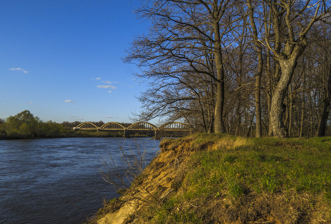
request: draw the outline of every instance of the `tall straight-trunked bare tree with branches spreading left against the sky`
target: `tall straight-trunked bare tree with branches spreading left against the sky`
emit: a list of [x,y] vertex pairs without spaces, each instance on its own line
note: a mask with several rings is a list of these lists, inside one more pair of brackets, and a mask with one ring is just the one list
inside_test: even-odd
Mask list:
[[137,63],[142,68],[137,75],[152,80],[152,85],[181,79],[183,73],[208,75],[216,87],[211,86],[214,102],[210,105],[217,133],[225,132],[223,37],[239,21],[236,10],[230,0],[163,0],[144,5],[138,15],[152,19],[151,33],[137,37],[124,60]]

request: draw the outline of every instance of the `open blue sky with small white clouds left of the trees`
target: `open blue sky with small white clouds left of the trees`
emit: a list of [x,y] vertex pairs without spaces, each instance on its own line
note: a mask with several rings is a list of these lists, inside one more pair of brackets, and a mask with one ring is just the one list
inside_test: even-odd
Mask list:
[[139,4],[1,0],[0,118],[29,110],[43,121],[129,122],[146,87],[120,58],[148,32]]

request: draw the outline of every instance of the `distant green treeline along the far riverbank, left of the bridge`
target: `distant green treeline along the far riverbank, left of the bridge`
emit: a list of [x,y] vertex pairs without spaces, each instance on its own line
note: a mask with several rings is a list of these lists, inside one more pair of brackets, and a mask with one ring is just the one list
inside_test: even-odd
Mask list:
[[[94,122],[99,127],[103,121]],[[122,137],[123,131],[83,131],[72,130],[80,121],[64,121],[56,123],[51,120],[42,121],[28,111],[22,111],[15,116],[6,119],[0,118],[0,139],[23,139],[23,138],[62,138],[62,137]],[[122,123],[124,126],[130,123]]]

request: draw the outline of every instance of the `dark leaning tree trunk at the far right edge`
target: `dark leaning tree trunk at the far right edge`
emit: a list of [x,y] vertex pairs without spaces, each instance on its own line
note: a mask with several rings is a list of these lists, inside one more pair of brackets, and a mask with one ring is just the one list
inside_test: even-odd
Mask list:
[[329,112],[330,112],[330,100],[331,100],[331,63],[329,66],[329,71],[328,71],[328,80],[326,83],[326,93],[324,94],[324,100],[323,100],[323,109],[322,109],[322,114],[321,118],[319,120],[318,124],[318,132],[317,136],[322,137],[325,136],[325,128],[326,128],[326,122],[329,117]]

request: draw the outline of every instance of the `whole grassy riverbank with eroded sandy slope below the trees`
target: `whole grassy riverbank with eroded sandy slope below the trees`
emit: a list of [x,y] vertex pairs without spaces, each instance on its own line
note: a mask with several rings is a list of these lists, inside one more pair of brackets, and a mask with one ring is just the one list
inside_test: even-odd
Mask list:
[[[142,195],[139,184],[151,185],[144,190],[153,197],[133,206],[123,223],[331,222],[330,137],[195,134],[165,139],[160,147],[126,190]],[[128,201],[126,193],[117,203]]]

